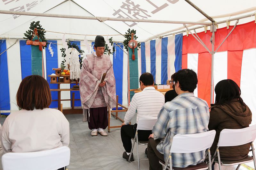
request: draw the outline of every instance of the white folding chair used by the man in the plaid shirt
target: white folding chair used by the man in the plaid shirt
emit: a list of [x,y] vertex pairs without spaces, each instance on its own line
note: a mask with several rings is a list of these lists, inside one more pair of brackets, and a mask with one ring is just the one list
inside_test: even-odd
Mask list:
[[[172,169],[174,170],[181,170],[181,169],[205,170],[209,168],[210,170],[212,170],[210,148],[212,146],[215,134],[216,134],[215,130],[210,130],[202,133],[175,135],[172,139],[172,146],[171,146],[170,153],[166,163],[164,163],[162,160],[159,160],[159,163],[162,166],[164,166],[164,170],[166,170],[166,168],[171,170]],[[185,168],[172,166],[172,156],[171,156],[172,153],[193,153],[193,152],[203,151],[206,149],[208,150],[209,165],[206,164],[205,162],[201,162],[197,165],[190,165]],[[205,157],[206,155],[207,155],[207,152],[205,153]]]

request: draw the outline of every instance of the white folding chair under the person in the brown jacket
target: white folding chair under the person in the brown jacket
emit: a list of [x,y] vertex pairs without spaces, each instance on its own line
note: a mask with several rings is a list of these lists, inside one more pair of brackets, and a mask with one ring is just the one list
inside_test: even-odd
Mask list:
[[[233,165],[238,165],[236,168],[236,170],[238,170],[241,164],[252,162],[252,161],[254,163],[254,168],[256,168],[255,153],[254,153],[254,147],[253,147],[253,141],[255,140],[255,137],[256,137],[256,125],[243,128],[243,129],[221,130],[217,148],[212,157],[212,162],[214,161],[218,163],[220,170],[221,170],[221,166],[233,166]],[[252,151],[252,156],[248,155],[246,158],[238,161],[220,159],[221,155],[219,152],[219,147],[238,146],[238,145],[248,144],[248,143],[251,143],[252,149],[250,151]],[[218,159],[215,159],[216,155]]]

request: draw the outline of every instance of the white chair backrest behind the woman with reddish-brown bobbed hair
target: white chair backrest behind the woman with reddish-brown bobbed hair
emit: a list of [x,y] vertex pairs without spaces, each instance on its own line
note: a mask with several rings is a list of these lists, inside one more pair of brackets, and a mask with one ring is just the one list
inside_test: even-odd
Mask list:
[[70,149],[67,146],[39,151],[5,153],[2,156],[3,170],[52,170],[69,165]]

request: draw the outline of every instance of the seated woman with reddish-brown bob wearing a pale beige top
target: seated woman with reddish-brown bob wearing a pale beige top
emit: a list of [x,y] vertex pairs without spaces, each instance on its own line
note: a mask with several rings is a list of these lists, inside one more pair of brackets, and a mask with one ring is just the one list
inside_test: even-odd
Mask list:
[[[36,152],[69,144],[69,123],[57,109],[48,108],[51,92],[41,76],[24,78],[17,92],[21,110],[11,113],[1,129],[4,152]],[[63,168],[62,168],[63,169]]]

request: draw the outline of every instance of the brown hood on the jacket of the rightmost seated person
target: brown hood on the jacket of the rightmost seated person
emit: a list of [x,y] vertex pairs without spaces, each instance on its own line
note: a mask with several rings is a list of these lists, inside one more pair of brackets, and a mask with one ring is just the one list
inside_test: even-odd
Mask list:
[[252,112],[247,105],[242,105],[238,100],[232,100],[228,104],[215,105],[211,108],[218,107],[223,112],[234,118],[241,126],[248,127],[252,122]]

